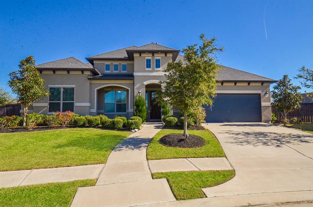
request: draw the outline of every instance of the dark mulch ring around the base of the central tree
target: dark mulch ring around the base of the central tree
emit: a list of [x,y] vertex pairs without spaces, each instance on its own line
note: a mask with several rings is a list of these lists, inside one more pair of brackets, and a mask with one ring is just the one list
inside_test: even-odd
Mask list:
[[160,144],[167,147],[180,147],[180,148],[196,148],[202,147],[205,141],[202,137],[189,134],[186,139],[183,134],[167,134],[159,140]]

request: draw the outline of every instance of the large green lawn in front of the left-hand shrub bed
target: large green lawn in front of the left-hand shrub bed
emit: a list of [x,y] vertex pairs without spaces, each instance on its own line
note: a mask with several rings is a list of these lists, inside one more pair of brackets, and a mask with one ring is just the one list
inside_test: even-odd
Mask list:
[[105,163],[130,134],[93,128],[0,133],[0,171]]

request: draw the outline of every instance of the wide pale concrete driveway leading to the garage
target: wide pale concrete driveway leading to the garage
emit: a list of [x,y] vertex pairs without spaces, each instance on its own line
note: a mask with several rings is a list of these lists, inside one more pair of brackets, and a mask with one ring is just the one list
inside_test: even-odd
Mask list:
[[232,180],[203,189],[208,198],[289,192],[288,197],[301,193],[313,199],[312,134],[263,123],[203,126],[218,138],[236,171]]

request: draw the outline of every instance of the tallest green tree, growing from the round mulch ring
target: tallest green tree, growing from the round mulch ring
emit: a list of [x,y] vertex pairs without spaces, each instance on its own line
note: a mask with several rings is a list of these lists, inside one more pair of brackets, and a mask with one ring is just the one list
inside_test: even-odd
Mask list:
[[164,87],[156,92],[158,103],[168,103],[173,109],[184,113],[184,136],[187,134],[187,113],[199,109],[203,104],[211,105],[216,90],[219,66],[216,54],[224,50],[216,44],[216,39],[204,38],[202,44],[194,44],[182,49],[184,62],[167,63],[164,70]]

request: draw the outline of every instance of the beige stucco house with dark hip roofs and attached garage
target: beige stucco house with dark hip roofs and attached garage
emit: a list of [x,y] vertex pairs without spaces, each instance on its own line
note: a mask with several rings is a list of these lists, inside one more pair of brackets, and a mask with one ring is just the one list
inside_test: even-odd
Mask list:
[[[165,80],[169,61],[182,59],[180,50],[149,43],[131,46],[86,58],[74,57],[36,65],[46,80],[49,97],[36,101],[30,112],[52,114],[73,111],[81,115],[113,117],[134,114],[134,98],[140,91],[146,98],[147,120],[160,120],[161,108],[153,94]],[[270,84],[276,80],[222,66],[217,96],[207,111],[208,122],[269,122]],[[179,116],[179,111],[172,111]]]

